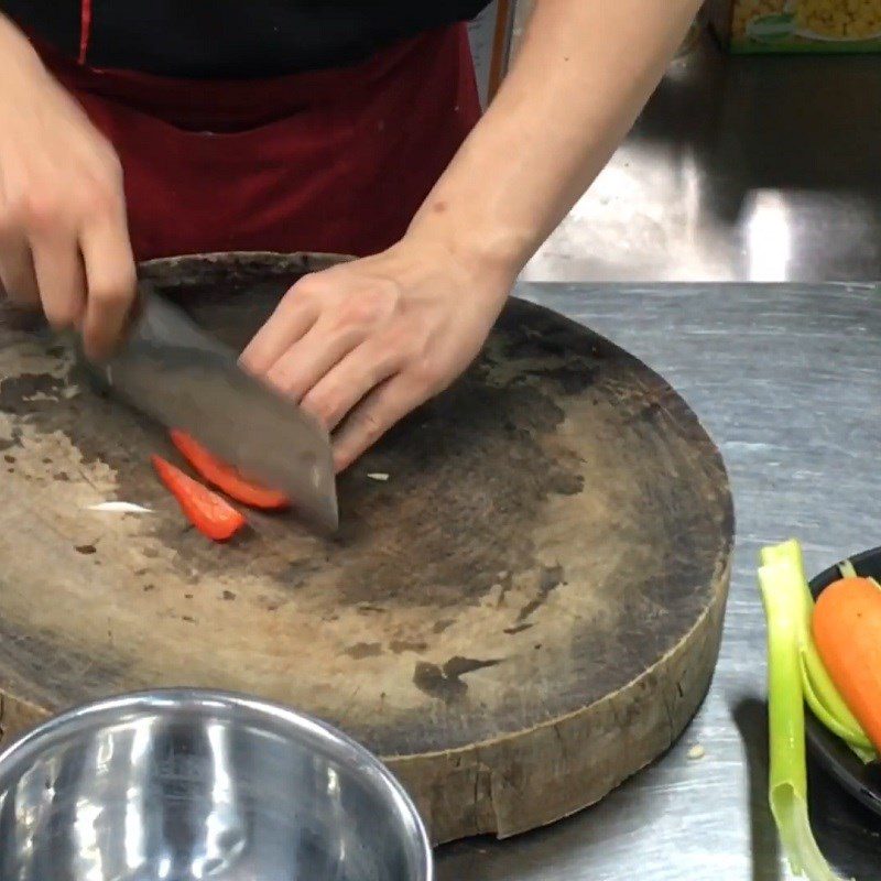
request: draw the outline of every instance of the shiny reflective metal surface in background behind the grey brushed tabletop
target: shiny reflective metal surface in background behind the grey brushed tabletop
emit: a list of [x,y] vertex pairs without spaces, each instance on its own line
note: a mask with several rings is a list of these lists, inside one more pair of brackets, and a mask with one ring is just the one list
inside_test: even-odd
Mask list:
[[881,279],[881,55],[677,58],[527,281]]

